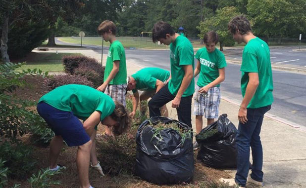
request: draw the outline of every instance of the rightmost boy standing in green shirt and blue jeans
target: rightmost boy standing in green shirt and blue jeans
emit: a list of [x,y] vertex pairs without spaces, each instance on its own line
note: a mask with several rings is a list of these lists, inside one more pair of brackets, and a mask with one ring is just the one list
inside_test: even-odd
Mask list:
[[[260,129],[263,115],[273,102],[273,79],[269,46],[253,35],[249,20],[244,16],[234,17],[228,30],[238,43],[245,42],[240,71],[242,102],[238,112],[237,173],[235,182],[240,187],[246,184],[263,187],[262,146]],[[252,173],[249,173],[250,146],[252,148]]]

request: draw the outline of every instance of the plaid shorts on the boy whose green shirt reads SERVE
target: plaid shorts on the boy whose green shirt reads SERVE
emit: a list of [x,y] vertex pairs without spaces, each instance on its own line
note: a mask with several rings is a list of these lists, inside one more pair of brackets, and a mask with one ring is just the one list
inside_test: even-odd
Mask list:
[[206,94],[199,93],[200,86],[196,85],[195,115],[204,115],[205,118],[214,119],[218,117],[220,104],[220,88],[212,87]]

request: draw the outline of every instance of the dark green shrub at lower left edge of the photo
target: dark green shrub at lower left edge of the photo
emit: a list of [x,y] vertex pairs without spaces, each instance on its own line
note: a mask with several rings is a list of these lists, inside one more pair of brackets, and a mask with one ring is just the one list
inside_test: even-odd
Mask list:
[[26,178],[27,174],[34,168],[35,161],[31,157],[32,148],[17,142],[4,142],[0,145],[0,158],[5,160],[8,167],[7,175],[11,178]]

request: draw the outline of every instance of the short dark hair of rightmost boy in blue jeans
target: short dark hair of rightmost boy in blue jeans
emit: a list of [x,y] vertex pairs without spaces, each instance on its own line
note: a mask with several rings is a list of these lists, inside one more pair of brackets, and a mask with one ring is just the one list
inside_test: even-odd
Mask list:
[[228,23],[227,28],[228,28],[228,31],[231,34],[236,34],[237,30],[239,30],[239,33],[241,35],[252,32],[251,24],[250,24],[249,20],[244,15],[239,15],[239,16],[234,17]]

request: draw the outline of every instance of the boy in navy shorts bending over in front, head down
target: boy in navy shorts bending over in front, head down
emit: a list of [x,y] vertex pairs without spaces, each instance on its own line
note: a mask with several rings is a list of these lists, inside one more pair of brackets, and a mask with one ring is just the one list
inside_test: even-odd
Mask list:
[[80,185],[81,188],[92,188],[88,173],[90,153],[95,140],[94,128],[101,122],[116,135],[122,134],[130,122],[123,105],[114,103],[109,96],[92,87],[68,84],[42,96],[37,111],[55,133],[50,143],[50,169],[59,168],[56,161],[63,140],[69,147],[78,146],[76,161]]

